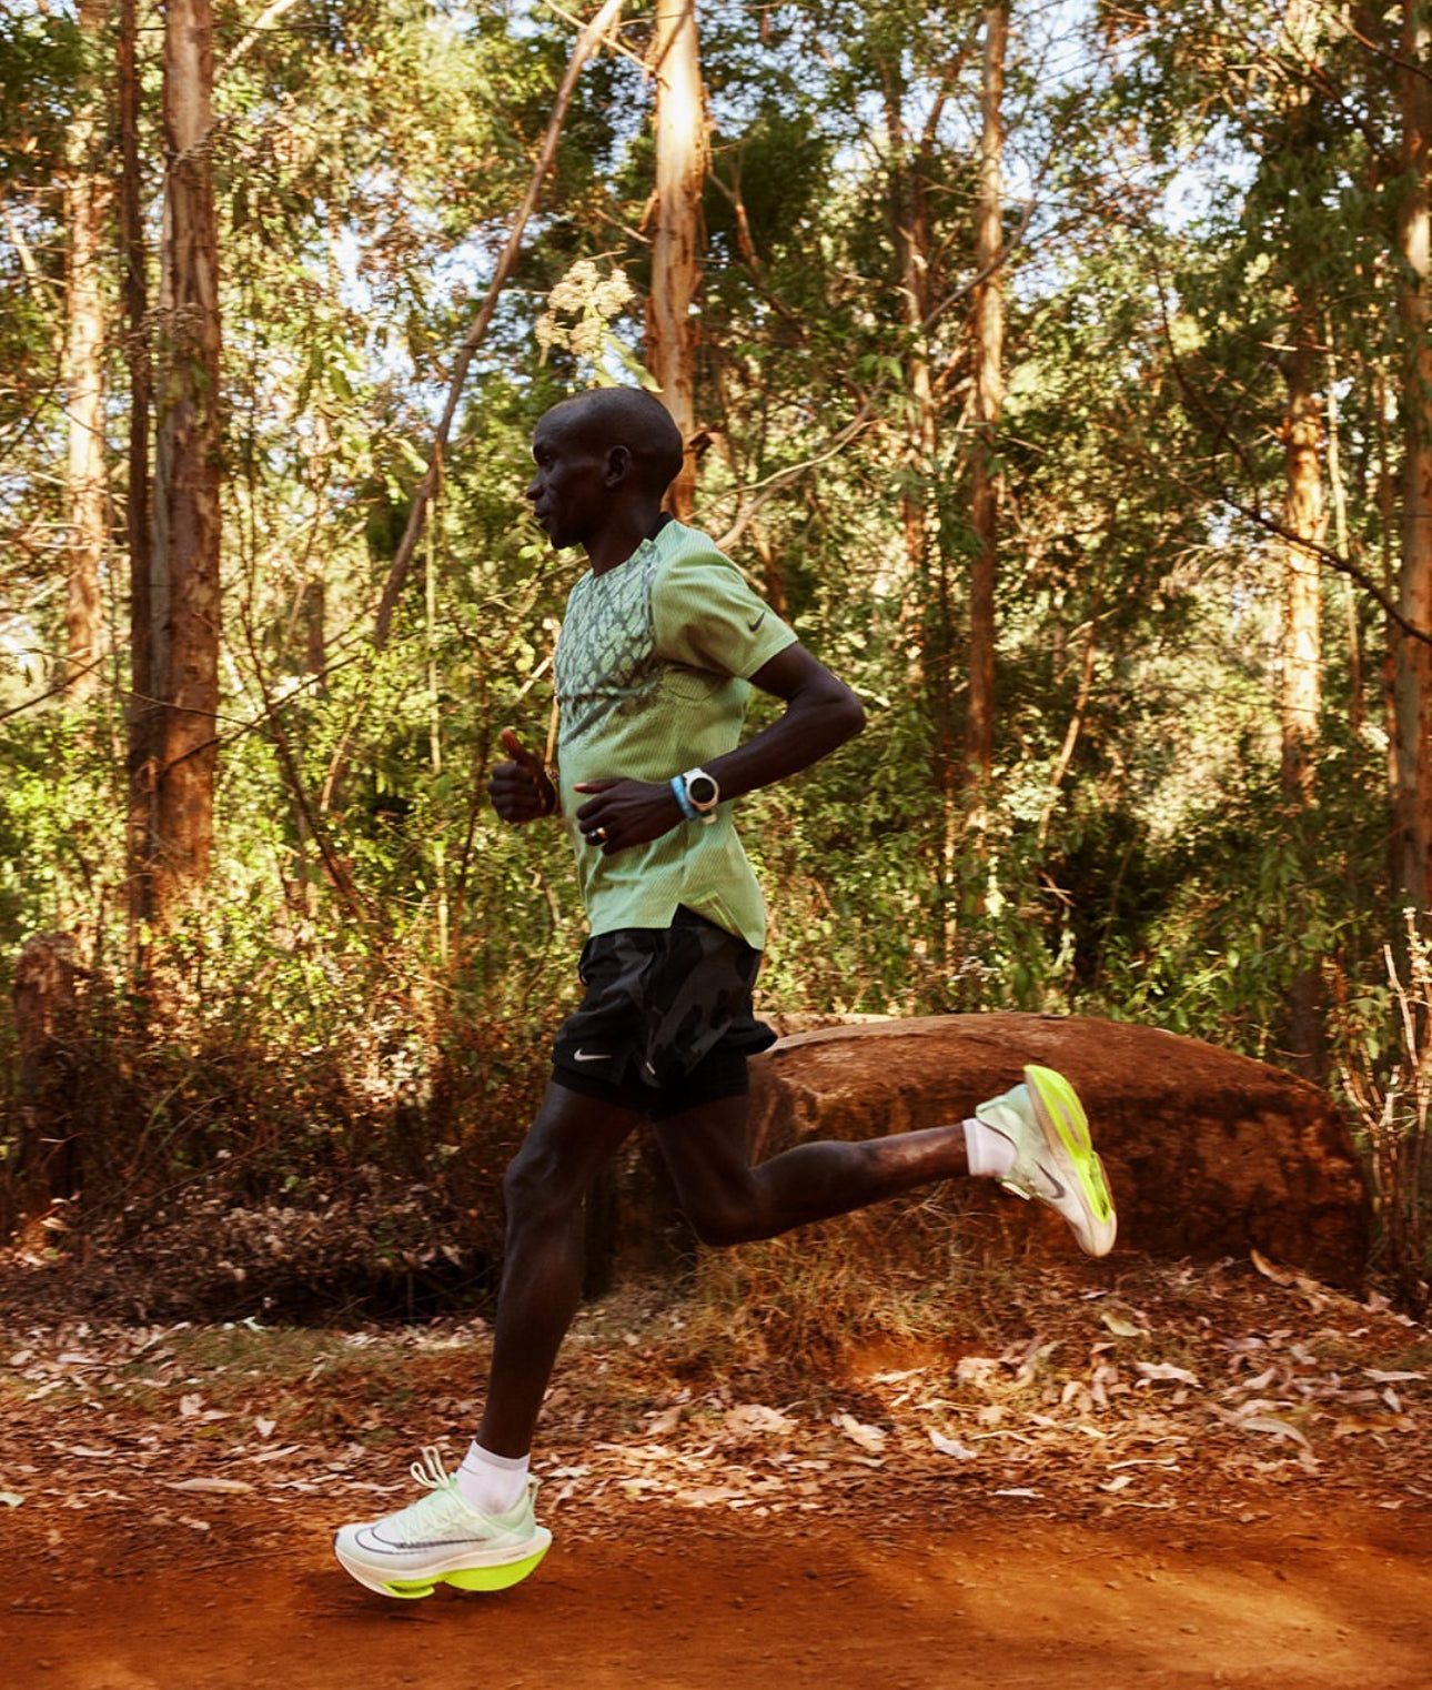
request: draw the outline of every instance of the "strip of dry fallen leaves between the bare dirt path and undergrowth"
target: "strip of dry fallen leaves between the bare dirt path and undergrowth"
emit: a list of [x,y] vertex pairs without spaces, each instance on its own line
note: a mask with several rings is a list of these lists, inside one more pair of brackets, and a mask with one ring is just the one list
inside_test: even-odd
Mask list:
[[[758,1345],[748,1366],[730,1350],[718,1364],[699,1306],[628,1288],[583,1311],[559,1362],[542,1506],[583,1536],[630,1509],[799,1521],[875,1506],[897,1529],[998,1507],[1255,1519],[1287,1486],[1432,1501],[1432,1333],[1385,1300],[1261,1259],[1133,1264],[1111,1288],[1088,1276],[1040,1269],[1003,1315],[979,1300],[978,1332],[887,1338],[881,1366],[853,1335],[819,1367]],[[10,1330],[0,1506],[144,1509],[194,1531],[209,1521],[179,1509],[196,1497],[213,1518],[255,1499],[323,1497],[334,1521],[399,1506],[410,1445],[461,1458],[490,1342],[475,1318]]]

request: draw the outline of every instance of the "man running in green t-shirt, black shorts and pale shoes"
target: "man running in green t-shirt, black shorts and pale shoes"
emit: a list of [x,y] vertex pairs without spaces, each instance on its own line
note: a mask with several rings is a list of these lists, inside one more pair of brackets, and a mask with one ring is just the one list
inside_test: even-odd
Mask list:
[[[746,1060],[775,1043],[751,987],[765,909],[733,801],[861,730],[854,693],[704,536],[662,512],[682,443],[635,389],[567,399],[537,424],[527,488],[552,546],[581,546],[557,642],[556,779],[512,732],[488,791],[513,825],[561,816],[591,938],[586,995],[557,1033],[537,1119],[507,1171],[507,1249],[486,1406],[456,1474],[424,1450],[427,1496],[343,1526],[334,1550],[395,1597],[496,1590],[551,1545],[529,1452],[583,1276],[583,1202],[650,1122],[697,1237],[775,1237],[934,1180],[988,1176],[1055,1208],[1089,1256],[1115,1210],[1074,1088],[1049,1068],[974,1117],[865,1142],[800,1144],[751,1166]],[[782,715],[741,744],[750,686]]]

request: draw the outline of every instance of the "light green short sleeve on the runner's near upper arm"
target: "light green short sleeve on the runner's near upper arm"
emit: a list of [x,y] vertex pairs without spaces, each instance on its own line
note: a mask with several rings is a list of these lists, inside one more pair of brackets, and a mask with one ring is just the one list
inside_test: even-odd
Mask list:
[[652,586],[652,634],[667,662],[743,681],[795,644],[795,630],[714,548],[681,554],[660,571]]

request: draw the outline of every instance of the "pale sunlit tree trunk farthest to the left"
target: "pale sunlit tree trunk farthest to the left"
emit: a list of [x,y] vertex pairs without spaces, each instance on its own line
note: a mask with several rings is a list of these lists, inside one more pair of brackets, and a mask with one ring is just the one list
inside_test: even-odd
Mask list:
[[[81,0],[79,30],[86,46],[98,41],[105,0]],[[78,705],[100,686],[103,607],[100,564],[105,556],[105,308],[100,264],[105,225],[105,177],[96,149],[103,139],[100,91],[86,76],[84,98],[69,130],[64,184],[66,265],[66,404],[68,429],[68,598],[64,610],[64,696]]]

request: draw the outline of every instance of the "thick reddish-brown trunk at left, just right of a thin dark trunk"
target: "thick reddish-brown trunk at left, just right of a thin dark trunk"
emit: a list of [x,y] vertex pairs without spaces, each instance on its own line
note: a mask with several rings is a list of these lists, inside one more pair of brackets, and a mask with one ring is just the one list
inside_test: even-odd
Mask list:
[[164,15],[164,260],[150,602],[159,700],[154,913],[203,889],[214,818],[220,654],[220,311],[209,0]]

